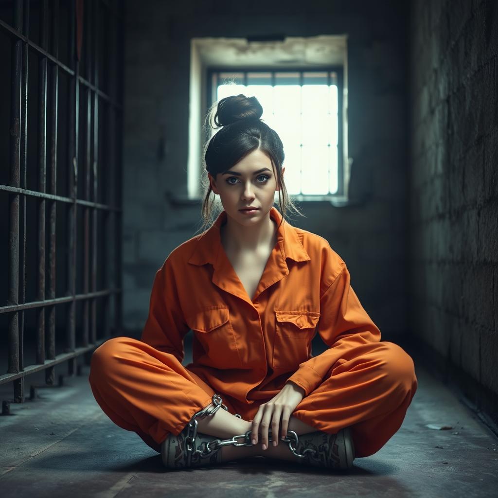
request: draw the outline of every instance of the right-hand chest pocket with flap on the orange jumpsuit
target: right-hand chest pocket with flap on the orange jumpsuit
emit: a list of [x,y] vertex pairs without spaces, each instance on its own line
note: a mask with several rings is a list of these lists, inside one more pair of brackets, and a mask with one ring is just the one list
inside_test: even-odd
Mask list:
[[311,358],[311,340],[320,319],[317,311],[275,310],[272,367],[296,371]]

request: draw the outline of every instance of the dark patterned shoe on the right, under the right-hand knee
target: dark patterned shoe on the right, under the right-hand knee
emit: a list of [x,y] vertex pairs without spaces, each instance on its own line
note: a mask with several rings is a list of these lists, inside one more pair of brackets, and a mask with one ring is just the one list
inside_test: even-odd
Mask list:
[[349,427],[341,429],[337,434],[323,431],[301,434],[297,447],[295,444],[292,447],[296,453],[304,455],[301,460],[308,465],[330,469],[353,467],[355,446]]

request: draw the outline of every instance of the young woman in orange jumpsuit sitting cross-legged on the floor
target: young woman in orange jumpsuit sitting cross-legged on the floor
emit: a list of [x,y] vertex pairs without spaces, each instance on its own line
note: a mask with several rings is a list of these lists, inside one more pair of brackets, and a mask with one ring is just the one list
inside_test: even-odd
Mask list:
[[[204,149],[209,228],[156,272],[141,340],[97,348],[92,391],[166,467],[259,455],[351,468],[401,426],[417,388],[413,361],[380,341],[327,240],[284,219],[299,211],[257,99],[227,97],[208,118],[215,111],[221,129]],[[223,206],[214,223],[212,192]],[[328,349],[314,357],[317,332]]]

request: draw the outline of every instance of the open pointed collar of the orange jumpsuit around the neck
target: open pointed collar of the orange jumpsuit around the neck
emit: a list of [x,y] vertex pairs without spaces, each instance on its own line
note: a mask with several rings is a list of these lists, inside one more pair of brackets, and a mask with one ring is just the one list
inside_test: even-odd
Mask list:
[[[278,227],[282,215],[274,206],[270,210],[270,217],[276,222]],[[198,243],[195,245],[195,249],[188,262],[199,266],[207,263],[212,264],[214,268],[213,283],[252,305],[253,301],[245,291],[221,243],[220,227],[226,220],[227,212],[223,210],[213,225],[201,234],[202,237],[199,238]],[[293,259],[294,261],[309,261],[311,259],[303,248],[294,227],[284,220],[282,225],[277,228],[277,243],[268,258],[254,299],[264,289],[288,275],[289,268],[286,258]]]

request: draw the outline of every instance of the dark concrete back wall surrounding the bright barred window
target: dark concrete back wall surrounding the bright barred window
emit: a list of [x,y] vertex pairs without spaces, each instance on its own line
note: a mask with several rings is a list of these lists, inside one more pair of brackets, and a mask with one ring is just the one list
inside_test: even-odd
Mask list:
[[[383,332],[406,329],[406,2],[126,2],[124,326],[143,327],[157,268],[199,227],[187,193],[190,38],[348,33],[351,193],[363,203],[301,203],[294,225],[327,238]],[[277,130],[278,131],[278,130]]]

